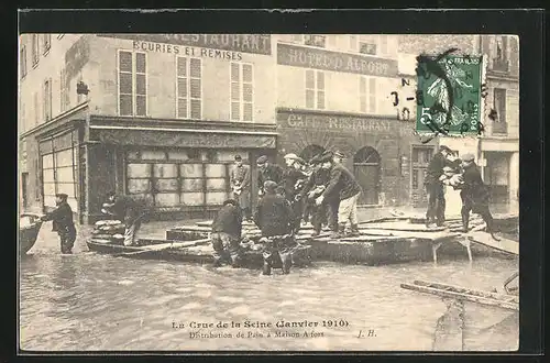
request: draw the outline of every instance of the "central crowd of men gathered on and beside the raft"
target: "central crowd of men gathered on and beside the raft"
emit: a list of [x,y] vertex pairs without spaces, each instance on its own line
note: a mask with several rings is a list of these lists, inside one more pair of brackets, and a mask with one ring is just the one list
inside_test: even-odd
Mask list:
[[[306,163],[296,154],[285,155],[286,167],[272,164],[267,156],[256,160],[258,202],[252,211],[250,166],[235,156],[230,183],[233,199],[226,200],[212,223],[215,264],[226,256],[234,267],[240,265],[239,241],[242,221],[253,221],[262,232],[265,275],[271,274],[274,258],[280,258],[289,273],[295,235],[302,222],[311,221],[312,237],[328,226],[332,238],[359,235],[358,198],[362,193],[353,174],[342,165],[341,152],[323,152]],[[350,232],[346,233],[346,223]]]

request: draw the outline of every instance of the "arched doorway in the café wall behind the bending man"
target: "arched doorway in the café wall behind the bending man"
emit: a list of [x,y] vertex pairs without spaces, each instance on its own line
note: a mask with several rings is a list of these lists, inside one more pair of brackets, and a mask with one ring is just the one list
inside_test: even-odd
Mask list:
[[381,158],[378,152],[371,146],[361,148],[353,156],[353,170],[358,183],[363,188],[358,204],[377,205],[381,185]]

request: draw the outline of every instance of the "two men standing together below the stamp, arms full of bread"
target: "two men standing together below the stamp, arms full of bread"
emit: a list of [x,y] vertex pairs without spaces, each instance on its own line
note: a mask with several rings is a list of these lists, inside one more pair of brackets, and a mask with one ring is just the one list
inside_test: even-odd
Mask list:
[[[461,158],[444,145],[431,158],[425,186],[428,194],[428,211],[426,226],[432,223],[443,226],[446,221],[446,186],[460,190],[462,200],[462,230],[469,231],[470,212],[480,215],[486,223],[486,231],[493,235],[495,231],[493,216],[490,211],[490,189],[483,183],[473,154],[464,154]],[[493,238],[495,238],[493,235]]]

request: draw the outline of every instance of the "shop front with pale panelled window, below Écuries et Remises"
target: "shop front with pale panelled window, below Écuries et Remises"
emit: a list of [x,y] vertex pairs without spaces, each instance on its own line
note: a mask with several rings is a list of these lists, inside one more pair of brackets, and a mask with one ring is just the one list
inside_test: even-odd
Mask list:
[[[257,128],[256,128],[257,129]],[[264,128],[265,129],[265,128]],[[162,218],[212,218],[232,197],[230,170],[241,155],[256,174],[254,161],[274,155],[276,133],[251,128],[90,125],[90,221],[100,216],[106,193],[143,200]],[[252,179],[251,182],[253,182]],[[256,195],[252,183],[252,195]]]

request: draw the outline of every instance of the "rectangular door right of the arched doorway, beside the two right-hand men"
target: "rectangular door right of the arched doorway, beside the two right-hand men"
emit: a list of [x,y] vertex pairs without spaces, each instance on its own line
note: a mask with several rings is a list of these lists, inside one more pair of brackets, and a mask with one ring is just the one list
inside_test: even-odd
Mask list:
[[413,146],[410,170],[410,197],[414,207],[426,207],[428,196],[424,187],[426,170],[433,156],[432,146]]

